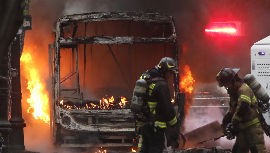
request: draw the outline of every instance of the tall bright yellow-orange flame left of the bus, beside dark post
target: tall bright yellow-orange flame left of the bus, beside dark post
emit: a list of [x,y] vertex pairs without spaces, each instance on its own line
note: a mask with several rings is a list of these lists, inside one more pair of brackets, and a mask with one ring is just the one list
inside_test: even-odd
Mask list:
[[23,67],[22,75],[28,80],[27,89],[31,93],[30,98],[27,99],[27,103],[30,104],[27,113],[31,113],[35,119],[41,119],[45,123],[49,124],[49,96],[45,89],[46,84],[42,82],[42,77],[38,68],[35,67],[31,54],[32,50],[33,49],[29,47],[25,47],[20,58],[21,65]]

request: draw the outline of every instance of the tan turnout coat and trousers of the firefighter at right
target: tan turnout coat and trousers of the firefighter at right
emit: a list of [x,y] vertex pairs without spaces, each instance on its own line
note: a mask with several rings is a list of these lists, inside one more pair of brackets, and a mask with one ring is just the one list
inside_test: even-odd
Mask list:
[[229,91],[229,109],[223,118],[223,123],[232,122],[238,128],[233,152],[266,153],[263,129],[258,119],[258,101],[251,88],[242,81],[234,84]]

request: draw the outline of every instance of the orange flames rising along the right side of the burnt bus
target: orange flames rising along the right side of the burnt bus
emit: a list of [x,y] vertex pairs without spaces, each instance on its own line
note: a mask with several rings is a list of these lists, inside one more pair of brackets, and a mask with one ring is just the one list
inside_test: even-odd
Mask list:
[[193,104],[194,100],[193,100],[193,83],[195,82],[195,80],[193,79],[192,75],[191,75],[191,70],[190,67],[188,65],[184,65],[184,67],[182,68],[182,73],[180,75],[180,92],[185,93],[185,116],[187,116],[189,114],[189,109],[190,106]]

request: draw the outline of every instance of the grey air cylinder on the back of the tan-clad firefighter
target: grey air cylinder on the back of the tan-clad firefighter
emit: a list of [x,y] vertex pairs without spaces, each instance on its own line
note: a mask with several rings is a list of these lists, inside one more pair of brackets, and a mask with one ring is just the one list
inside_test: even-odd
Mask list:
[[267,109],[269,108],[270,98],[264,88],[262,88],[262,85],[256,80],[256,78],[252,74],[247,74],[244,77],[244,81],[252,89],[259,102],[262,102],[262,106],[260,106],[260,104],[258,106],[261,107],[264,113],[267,112]]

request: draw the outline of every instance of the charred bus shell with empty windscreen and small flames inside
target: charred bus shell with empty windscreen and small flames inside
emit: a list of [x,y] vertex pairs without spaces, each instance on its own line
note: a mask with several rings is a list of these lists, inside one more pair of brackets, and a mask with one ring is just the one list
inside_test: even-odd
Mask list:
[[[139,12],[74,14],[59,18],[53,32],[55,42],[49,44],[49,73],[52,78],[50,127],[54,145],[61,148],[136,147],[137,123],[129,109],[132,85],[140,73],[153,66],[154,59],[169,55],[178,62],[173,18]],[[113,51],[116,49],[117,52]],[[180,49],[181,55],[182,47]],[[106,52],[102,54],[102,50]],[[107,52],[112,55],[109,65],[115,67],[102,70]],[[94,55],[98,57],[93,58]],[[152,60],[141,63],[149,59],[149,55]],[[136,58],[142,60],[136,61]],[[93,68],[97,62],[101,64]],[[145,69],[138,68],[141,65]],[[121,75],[114,77],[116,71]],[[104,81],[107,72],[113,74],[107,75],[109,79]],[[173,82],[170,89],[175,93],[172,95],[174,109],[182,121],[185,96],[179,91],[179,74],[174,74],[169,81]],[[103,88],[99,82],[105,82]],[[90,91],[94,96],[88,96]],[[100,96],[105,98],[88,100]],[[193,148],[185,152],[191,150],[202,151]]]

